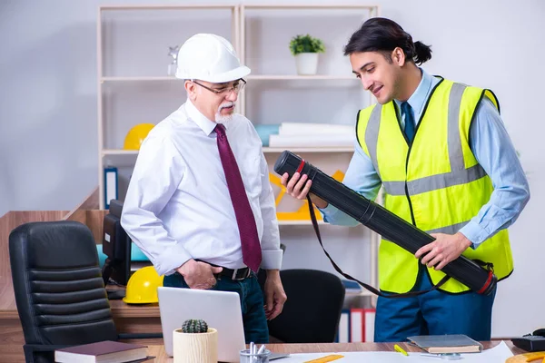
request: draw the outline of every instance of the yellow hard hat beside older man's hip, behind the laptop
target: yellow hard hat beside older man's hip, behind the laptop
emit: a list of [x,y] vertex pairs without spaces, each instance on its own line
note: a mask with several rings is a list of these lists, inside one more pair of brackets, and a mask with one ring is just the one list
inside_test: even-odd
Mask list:
[[158,302],[157,288],[163,286],[164,276],[159,276],[153,266],[136,270],[127,283],[124,302],[127,304],[151,304]]

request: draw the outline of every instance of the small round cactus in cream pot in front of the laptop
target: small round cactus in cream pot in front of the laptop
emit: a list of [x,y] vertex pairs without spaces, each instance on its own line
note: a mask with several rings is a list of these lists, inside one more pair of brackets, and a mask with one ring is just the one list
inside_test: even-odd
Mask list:
[[182,329],[173,331],[173,358],[174,363],[216,363],[218,331],[202,319],[185,320]]

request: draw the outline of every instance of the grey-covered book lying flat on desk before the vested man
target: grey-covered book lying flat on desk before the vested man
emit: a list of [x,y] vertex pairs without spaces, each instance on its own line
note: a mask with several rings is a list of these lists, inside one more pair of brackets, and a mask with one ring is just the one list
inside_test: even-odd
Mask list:
[[422,335],[409,340],[428,353],[479,353],[482,344],[463,334]]

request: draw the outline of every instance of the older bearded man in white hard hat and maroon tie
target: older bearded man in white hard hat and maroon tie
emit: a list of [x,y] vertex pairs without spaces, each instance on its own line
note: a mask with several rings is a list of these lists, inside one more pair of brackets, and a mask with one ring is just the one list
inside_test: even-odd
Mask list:
[[267,319],[281,313],[286,296],[262,142],[233,113],[247,74],[221,36],[196,34],[183,44],[176,77],[185,80],[187,101],[144,140],[122,225],[165,275],[164,286],[238,292],[246,341],[266,343]]

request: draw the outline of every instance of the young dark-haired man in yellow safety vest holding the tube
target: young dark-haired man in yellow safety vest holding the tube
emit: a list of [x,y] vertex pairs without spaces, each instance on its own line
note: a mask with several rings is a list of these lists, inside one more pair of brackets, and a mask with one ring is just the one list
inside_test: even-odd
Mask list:
[[[381,240],[379,279],[386,293],[430,289],[462,253],[493,264],[499,280],[513,262],[507,227],[530,198],[529,185],[489,90],[431,76],[419,68],[431,49],[389,19],[372,18],[344,48],[353,73],[379,104],[358,114],[357,142],[344,183],[435,238],[412,255]],[[305,198],[306,175],[282,177]],[[311,194],[325,221],[352,218]],[[419,263],[419,260],[421,259]],[[467,334],[490,340],[495,290],[482,296],[451,279],[441,289],[405,298],[379,297],[375,341],[411,335]]]

